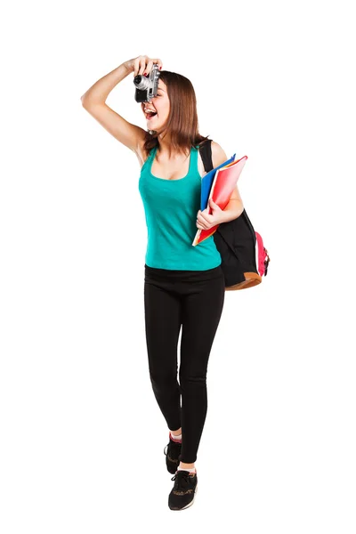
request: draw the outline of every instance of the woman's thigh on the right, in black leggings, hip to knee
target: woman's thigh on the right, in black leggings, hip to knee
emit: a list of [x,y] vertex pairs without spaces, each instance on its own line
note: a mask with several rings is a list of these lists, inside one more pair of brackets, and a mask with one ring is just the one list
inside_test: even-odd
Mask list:
[[204,376],[225,299],[223,274],[197,282],[182,306],[181,374]]

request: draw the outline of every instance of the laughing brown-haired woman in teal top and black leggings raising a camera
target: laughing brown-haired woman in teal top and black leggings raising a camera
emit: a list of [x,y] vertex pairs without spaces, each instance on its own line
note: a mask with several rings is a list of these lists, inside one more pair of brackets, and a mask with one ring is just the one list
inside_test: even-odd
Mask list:
[[[149,75],[154,63],[159,67],[158,93],[141,104],[146,131],[105,101],[125,77]],[[98,80],[82,103],[109,134],[134,151],[141,166],[139,190],[148,228],[144,308],[150,381],[169,429],[166,467],[175,474],[168,506],[182,510],[193,503],[197,490],[195,462],[206,420],[207,362],[225,295],[214,237],[196,247],[191,243],[197,229],[231,221],[243,205],[236,188],[224,210],[211,202],[213,214],[200,211],[200,182],[206,173],[198,147],[207,138],[198,133],[196,96],[190,80],[162,70],[159,59],[125,61]],[[218,143],[212,142],[211,148],[214,167],[228,159]]]

